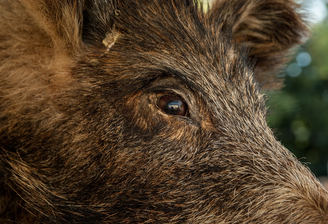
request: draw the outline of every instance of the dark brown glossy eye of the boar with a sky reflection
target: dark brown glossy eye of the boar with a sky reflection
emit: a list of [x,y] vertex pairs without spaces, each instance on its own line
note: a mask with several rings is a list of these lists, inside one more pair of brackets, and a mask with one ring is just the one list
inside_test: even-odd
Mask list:
[[180,96],[175,94],[161,96],[157,100],[157,106],[167,114],[184,117],[188,115],[187,103]]

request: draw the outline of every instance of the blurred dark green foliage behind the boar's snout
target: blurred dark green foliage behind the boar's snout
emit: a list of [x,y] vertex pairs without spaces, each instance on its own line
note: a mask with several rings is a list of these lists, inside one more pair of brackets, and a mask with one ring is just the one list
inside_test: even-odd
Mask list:
[[313,29],[285,74],[285,87],[268,94],[270,127],[316,176],[327,175],[328,19]]

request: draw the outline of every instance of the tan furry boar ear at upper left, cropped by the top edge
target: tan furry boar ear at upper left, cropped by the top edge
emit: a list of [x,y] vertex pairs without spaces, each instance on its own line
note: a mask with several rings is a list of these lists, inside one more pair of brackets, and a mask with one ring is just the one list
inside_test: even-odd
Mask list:
[[83,0],[24,0],[23,4],[59,48],[81,47]]

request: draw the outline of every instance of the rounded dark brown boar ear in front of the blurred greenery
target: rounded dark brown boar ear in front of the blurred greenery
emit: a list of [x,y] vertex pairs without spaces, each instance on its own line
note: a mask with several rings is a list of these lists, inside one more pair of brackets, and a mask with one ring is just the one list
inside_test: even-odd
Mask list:
[[299,10],[292,0],[217,0],[210,17],[221,20],[222,30],[232,31],[237,45],[249,48],[257,81],[278,88],[282,82],[273,74],[308,31]]

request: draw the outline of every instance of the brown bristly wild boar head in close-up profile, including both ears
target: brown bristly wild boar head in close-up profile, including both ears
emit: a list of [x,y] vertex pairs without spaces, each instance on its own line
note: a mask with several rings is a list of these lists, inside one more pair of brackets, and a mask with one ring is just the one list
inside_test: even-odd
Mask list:
[[259,86],[292,0],[0,0],[1,223],[328,223]]

